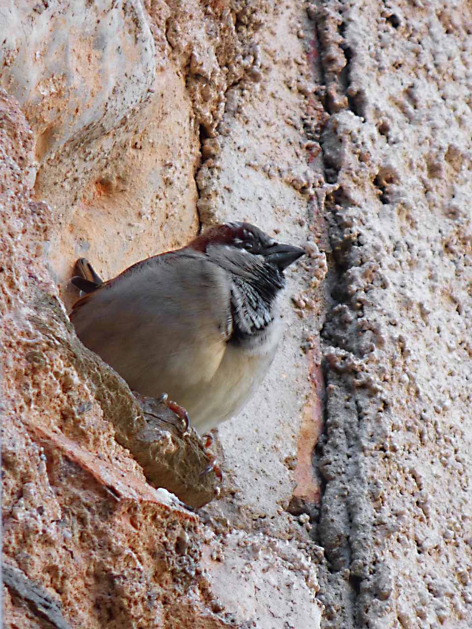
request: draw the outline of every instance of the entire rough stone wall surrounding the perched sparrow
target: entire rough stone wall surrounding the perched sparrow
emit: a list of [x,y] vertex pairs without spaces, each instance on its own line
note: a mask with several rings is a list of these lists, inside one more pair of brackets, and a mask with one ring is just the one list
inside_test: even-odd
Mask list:
[[[16,0],[0,31],[6,623],[471,626],[469,4]],[[143,449],[68,280],[222,220],[309,255],[191,511],[159,485],[215,494],[201,442]]]

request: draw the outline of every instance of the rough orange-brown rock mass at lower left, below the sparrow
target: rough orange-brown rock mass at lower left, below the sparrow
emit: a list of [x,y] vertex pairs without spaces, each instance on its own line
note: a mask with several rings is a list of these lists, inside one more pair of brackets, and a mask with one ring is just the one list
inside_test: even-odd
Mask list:
[[3,550],[29,584],[10,586],[5,619],[43,626],[33,591],[70,626],[164,626],[198,580],[198,518],[115,440],[111,420],[128,431],[145,420],[72,332],[42,264],[51,217],[30,201],[33,137],[16,101],[0,99]]

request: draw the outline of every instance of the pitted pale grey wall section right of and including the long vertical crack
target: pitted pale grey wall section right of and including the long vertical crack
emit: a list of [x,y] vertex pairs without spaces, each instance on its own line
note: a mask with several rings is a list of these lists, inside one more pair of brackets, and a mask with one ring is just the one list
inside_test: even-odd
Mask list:
[[472,625],[469,3],[322,3],[326,626]]

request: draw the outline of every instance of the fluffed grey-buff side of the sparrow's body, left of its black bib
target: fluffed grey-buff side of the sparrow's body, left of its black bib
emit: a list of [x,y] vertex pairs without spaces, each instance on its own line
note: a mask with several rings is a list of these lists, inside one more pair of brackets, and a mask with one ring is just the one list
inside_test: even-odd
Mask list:
[[201,253],[164,253],[79,299],[70,318],[138,391],[165,391],[168,377],[196,386],[211,380],[232,333],[230,282]]

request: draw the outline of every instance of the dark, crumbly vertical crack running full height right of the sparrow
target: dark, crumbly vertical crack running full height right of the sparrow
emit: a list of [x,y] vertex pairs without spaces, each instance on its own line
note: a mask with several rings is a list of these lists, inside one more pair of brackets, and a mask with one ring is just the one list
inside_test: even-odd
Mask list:
[[[326,86],[324,106],[332,116],[320,145],[325,177],[336,184],[342,171],[343,140],[333,116],[342,109],[362,116],[362,94],[352,91],[349,85],[354,53],[344,40],[342,5],[317,3],[312,13]],[[351,230],[349,205],[342,184],[327,195],[324,203],[332,246],[327,276],[332,306],[322,330],[325,435],[317,454],[324,479],[318,536],[327,559],[327,564],[321,567],[323,594],[319,597],[325,604],[322,621],[325,629],[365,626],[362,607],[370,596],[373,516],[362,462],[363,445],[368,438],[366,418],[381,412],[382,406],[369,390],[369,379],[359,382],[360,365],[350,364],[351,357],[356,362],[362,361],[358,337],[364,307],[357,301],[357,294],[352,293],[349,271],[353,267],[358,269],[364,261],[359,234]]]

